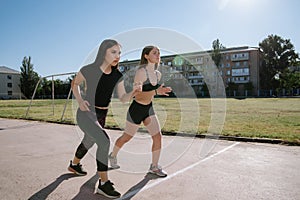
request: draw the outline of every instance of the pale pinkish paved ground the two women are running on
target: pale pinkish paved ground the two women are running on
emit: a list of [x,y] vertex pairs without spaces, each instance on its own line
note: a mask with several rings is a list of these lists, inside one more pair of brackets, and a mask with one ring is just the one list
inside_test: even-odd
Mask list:
[[[112,142],[121,131],[107,130]],[[107,199],[98,185],[96,146],[82,160],[88,175],[67,171],[80,143],[76,126],[0,119],[0,199]],[[109,171],[121,199],[299,200],[300,147],[185,137],[163,137],[168,177],[147,174],[151,139],[139,133]]]

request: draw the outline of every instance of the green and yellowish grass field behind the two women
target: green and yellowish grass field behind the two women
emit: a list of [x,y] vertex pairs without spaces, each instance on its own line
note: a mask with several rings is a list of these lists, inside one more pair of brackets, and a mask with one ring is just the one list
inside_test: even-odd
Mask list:
[[[25,119],[29,100],[1,100],[0,117]],[[27,119],[74,124],[77,104],[69,100],[34,100]],[[123,128],[129,104],[113,99],[107,128]],[[163,132],[218,134],[282,139],[300,144],[300,99],[156,98],[155,111]]]

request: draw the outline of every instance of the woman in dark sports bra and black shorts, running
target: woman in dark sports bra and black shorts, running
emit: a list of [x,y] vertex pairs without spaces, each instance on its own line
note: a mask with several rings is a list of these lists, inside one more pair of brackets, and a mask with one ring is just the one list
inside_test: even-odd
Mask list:
[[166,177],[167,174],[158,165],[161,151],[161,129],[157,116],[153,110],[152,100],[155,95],[166,95],[172,91],[170,87],[164,87],[160,82],[161,73],[157,70],[160,63],[160,51],[155,46],[146,46],[141,55],[140,67],[138,68],[134,82],[135,85],[142,83],[142,92],[138,92],[132,101],[126,119],[126,127],[123,135],[119,137],[109,155],[111,167],[119,168],[117,164],[117,154],[122,146],[128,142],[137,132],[140,124],[143,122],[150,133],[152,143],[152,163],[149,172],[160,177]]

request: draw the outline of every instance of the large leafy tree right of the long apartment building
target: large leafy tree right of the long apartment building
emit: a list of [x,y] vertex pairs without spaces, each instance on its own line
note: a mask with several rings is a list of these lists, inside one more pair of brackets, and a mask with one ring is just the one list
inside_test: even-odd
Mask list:
[[276,80],[278,74],[284,75],[287,68],[296,63],[299,55],[289,39],[277,35],[269,35],[259,43],[262,51],[262,67],[260,70],[260,84],[262,89],[276,89],[280,81]]

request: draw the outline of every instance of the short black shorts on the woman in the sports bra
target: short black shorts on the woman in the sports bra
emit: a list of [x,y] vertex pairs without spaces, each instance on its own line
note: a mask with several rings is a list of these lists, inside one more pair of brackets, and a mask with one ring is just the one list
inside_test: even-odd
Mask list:
[[127,112],[127,121],[141,124],[142,121],[151,115],[155,115],[152,102],[148,105],[143,105],[133,100]]

